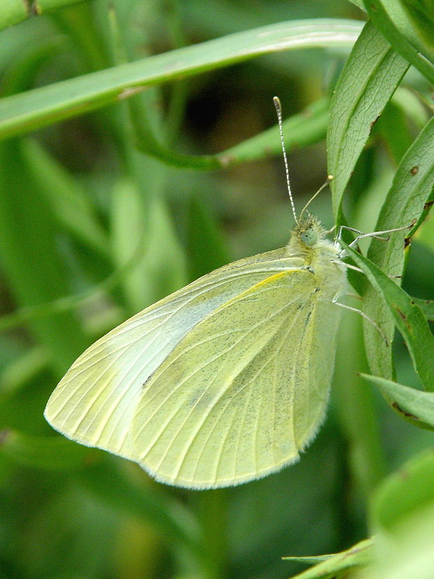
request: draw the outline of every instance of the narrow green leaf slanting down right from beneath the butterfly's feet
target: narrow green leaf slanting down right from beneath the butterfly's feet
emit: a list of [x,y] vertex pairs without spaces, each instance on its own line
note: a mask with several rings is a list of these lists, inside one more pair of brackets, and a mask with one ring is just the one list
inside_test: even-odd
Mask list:
[[[344,242],[344,249],[353,259],[354,263],[365,272],[367,279],[377,291],[377,300],[381,299],[391,312],[395,325],[400,330],[407,344],[410,356],[414,364],[414,370],[419,375],[426,390],[434,390],[434,336],[430,332],[419,306],[410,298],[404,290],[395,284],[384,274],[377,265],[372,263],[360,253],[353,251]],[[377,322],[377,319],[374,319]],[[380,327],[382,325],[380,324]],[[377,328],[374,328],[378,332]],[[381,334],[380,334],[381,337]],[[381,337],[384,340],[384,337]],[[386,351],[391,349],[390,342],[384,344]]]

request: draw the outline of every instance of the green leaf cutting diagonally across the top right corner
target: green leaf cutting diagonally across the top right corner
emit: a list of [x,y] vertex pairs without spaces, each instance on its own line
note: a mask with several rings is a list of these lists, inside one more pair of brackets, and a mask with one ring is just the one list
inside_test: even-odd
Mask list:
[[363,0],[367,13],[381,34],[405,60],[434,83],[434,53],[415,32],[400,2],[396,0]]

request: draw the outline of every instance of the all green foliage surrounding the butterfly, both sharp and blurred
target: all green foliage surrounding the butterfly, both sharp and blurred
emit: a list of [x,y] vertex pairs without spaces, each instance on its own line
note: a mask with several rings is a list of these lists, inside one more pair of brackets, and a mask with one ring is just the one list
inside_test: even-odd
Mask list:
[[[1,577],[429,578],[432,8],[2,5]],[[327,225],[407,226],[361,239],[367,258],[343,236],[365,272],[350,272],[354,305],[383,335],[344,316],[329,417],[300,463],[234,489],[172,489],[53,433],[43,408],[116,323],[286,243],[275,94],[297,207],[328,173],[332,202],[312,209]]]

